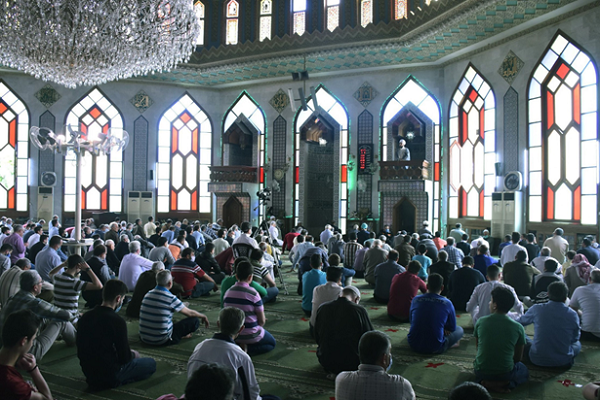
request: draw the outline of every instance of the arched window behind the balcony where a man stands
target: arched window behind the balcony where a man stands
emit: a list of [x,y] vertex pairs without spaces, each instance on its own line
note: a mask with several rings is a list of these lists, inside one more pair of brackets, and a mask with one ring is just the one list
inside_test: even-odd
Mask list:
[[432,215],[432,229],[439,229],[440,211],[440,120],[441,111],[438,101],[427,89],[414,77],[409,76],[383,104],[381,110],[381,158],[382,161],[393,159],[393,143],[391,143],[392,132],[389,131],[392,123],[404,111],[417,110],[422,114],[428,125],[431,136],[433,136],[433,150],[431,147],[425,149],[425,158],[433,161],[433,181],[425,181],[425,191],[429,195],[429,215]]

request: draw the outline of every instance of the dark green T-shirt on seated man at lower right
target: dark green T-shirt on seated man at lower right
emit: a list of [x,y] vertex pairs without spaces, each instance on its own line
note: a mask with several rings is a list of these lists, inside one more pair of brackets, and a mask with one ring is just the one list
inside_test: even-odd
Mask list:
[[475,324],[477,356],[473,362],[476,371],[489,375],[505,374],[513,370],[515,347],[525,344],[525,329],[506,314],[491,314]]

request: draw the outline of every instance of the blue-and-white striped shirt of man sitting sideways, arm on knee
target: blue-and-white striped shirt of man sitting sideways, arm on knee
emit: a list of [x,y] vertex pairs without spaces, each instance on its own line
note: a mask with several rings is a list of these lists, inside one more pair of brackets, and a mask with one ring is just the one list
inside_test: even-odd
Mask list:
[[157,286],[144,296],[140,308],[140,339],[142,342],[161,345],[173,334],[173,313],[185,305],[174,294]]

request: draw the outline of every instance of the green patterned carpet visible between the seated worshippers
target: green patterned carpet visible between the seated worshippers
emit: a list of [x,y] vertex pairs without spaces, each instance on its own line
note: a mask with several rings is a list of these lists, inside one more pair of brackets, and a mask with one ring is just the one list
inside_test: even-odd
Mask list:
[[[308,333],[308,320],[300,308],[300,297],[296,292],[296,274],[288,273],[284,267],[289,296],[280,294],[275,304],[266,306],[266,329],[277,340],[274,351],[254,357],[254,365],[261,386],[261,392],[275,394],[282,399],[330,400],[334,398],[334,383],[325,378],[324,371],[316,357],[316,344]],[[408,324],[390,321],[386,308],[372,298],[361,279],[355,281],[361,289],[361,304],[368,310],[375,329],[390,335],[393,343],[393,374],[401,374],[413,385],[418,398],[445,399],[455,385],[474,378],[472,363],[475,357],[475,340],[470,316],[458,317],[458,323],[465,328],[465,337],[457,349],[439,356],[422,356],[410,350],[406,341]],[[83,304],[83,303],[82,303]],[[202,329],[192,339],[184,340],[172,347],[155,348],[142,344],[138,338],[137,320],[128,319],[131,347],[143,356],[157,361],[157,371],[149,380],[124,387],[87,393],[85,378],[79,367],[76,350],[63,342],[56,343],[41,363],[41,370],[57,399],[156,399],[165,393],[180,396],[186,383],[186,364],[197,343],[210,338],[217,329],[219,313],[219,293],[210,297],[192,300],[190,304],[205,313],[210,320],[210,328]],[[121,312],[124,316],[124,312]],[[529,335],[533,328],[527,329]],[[600,346],[584,342],[582,353],[569,370],[552,370],[528,364],[530,381],[510,394],[496,395],[501,399],[578,399],[581,386],[600,377]]]

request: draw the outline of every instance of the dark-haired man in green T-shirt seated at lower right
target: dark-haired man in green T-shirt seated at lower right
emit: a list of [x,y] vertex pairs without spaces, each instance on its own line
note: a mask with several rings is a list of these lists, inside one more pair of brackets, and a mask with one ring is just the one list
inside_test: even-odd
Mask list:
[[480,318],[473,331],[477,344],[475,378],[490,392],[509,393],[529,379],[529,371],[521,362],[525,329],[506,315],[514,304],[509,289],[495,287],[490,302],[492,314]]

